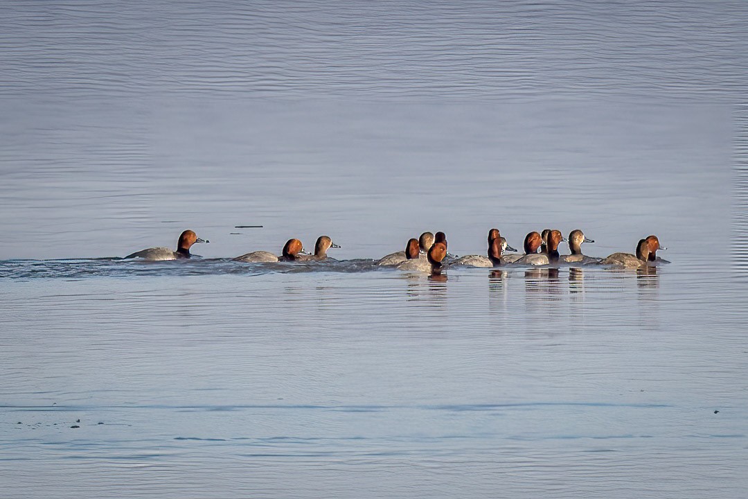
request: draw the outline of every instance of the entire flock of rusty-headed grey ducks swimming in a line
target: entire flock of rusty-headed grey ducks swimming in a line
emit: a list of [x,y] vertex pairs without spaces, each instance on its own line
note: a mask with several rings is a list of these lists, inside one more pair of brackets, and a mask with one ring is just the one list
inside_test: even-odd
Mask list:
[[[197,242],[209,242],[197,237],[192,230],[185,230],[180,235],[177,251],[169,248],[148,248],[127,255],[125,258],[142,258],[144,260],[177,260],[189,258],[189,250]],[[568,242],[571,254],[559,254],[561,242]],[[572,230],[565,238],[560,230],[546,229],[542,233],[530,232],[524,238],[524,254],[519,254],[515,248],[506,244],[498,229],[488,231],[487,256],[471,254],[466,257],[455,257],[447,252],[447,236],[443,232],[435,235],[424,232],[418,239],[409,239],[405,251],[388,254],[376,262],[377,266],[394,267],[408,272],[430,272],[439,274],[444,266],[497,267],[506,265],[539,266],[553,265],[560,262],[599,264],[616,268],[638,269],[640,267],[655,266],[658,263],[668,263],[657,257],[657,250],[667,249],[660,246],[657,236],[647,236],[640,239],[636,254],[613,253],[605,258],[589,257],[582,253],[584,242],[595,242],[587,239],[581,230]],[[239,262],[294,262],[325,260],[330,248],[340,248],[328,236],[320,236],[314,246],[314,253],[304,251],[304,245],[298,239],[289,239],[283,246],[280,256],[269,251],[253,251],[243,254],[233,260]],[[515,254],[505,254],[512,251]]]

